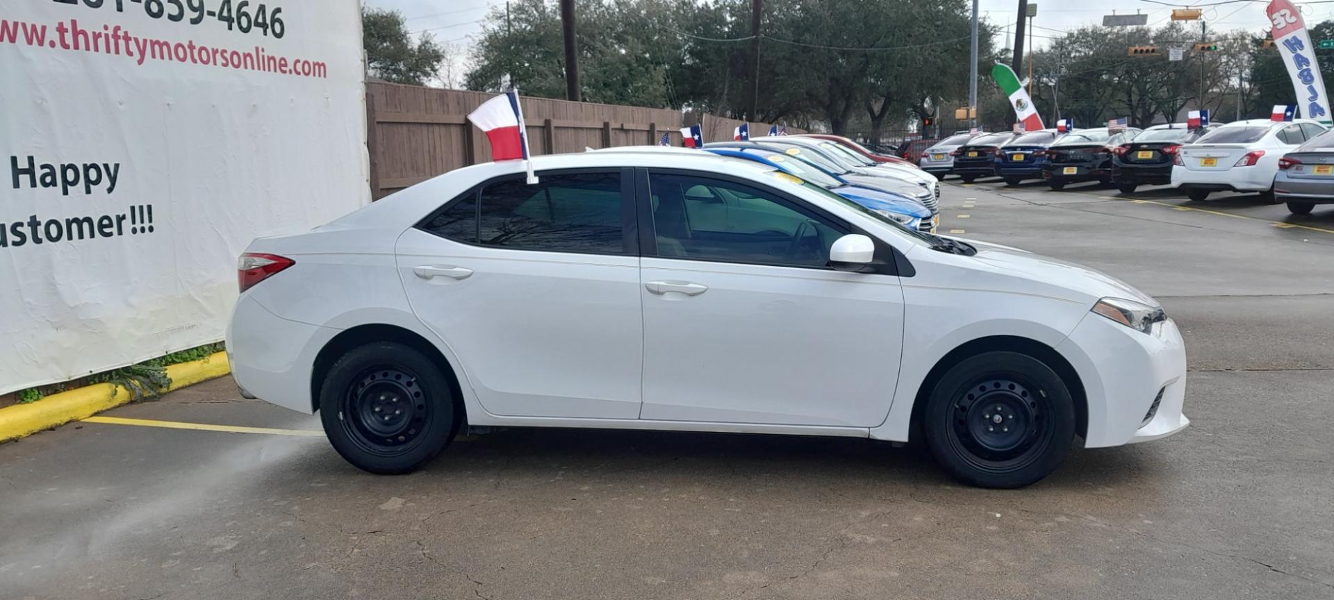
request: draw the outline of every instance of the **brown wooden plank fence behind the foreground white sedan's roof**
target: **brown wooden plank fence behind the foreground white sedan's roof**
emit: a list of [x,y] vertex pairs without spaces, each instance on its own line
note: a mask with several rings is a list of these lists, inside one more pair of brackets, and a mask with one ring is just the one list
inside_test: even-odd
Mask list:
[[[487,136],[467,115],[494,95],[388,83],[366,84],[371,195],[379,200],[436,175],[491,160]],[[524,128],[534,155],[583,152],[584,148],[658,144],[663,133],[680,145],[680,128],[695,115],[660,108],[523,99]],[[704,141],[731,140],[740,121],[712,115],[703,121]],[[768,124],[751,123],[755,136]],[[788,128],[790,133],[802,129]]]

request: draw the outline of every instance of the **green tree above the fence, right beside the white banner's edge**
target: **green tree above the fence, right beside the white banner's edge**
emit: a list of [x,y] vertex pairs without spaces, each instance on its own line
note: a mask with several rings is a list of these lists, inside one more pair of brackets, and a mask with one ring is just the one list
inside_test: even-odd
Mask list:
[[398,11],[362,8],[362,44],[366,68],[386,81],[424,85],[444,61],[444,51],[430,33],[414,44]]

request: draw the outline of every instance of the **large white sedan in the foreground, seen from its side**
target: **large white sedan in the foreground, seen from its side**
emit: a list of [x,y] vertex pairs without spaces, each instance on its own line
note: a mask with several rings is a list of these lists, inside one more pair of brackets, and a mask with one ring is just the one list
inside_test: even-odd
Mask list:
[[534,185],[480,164],[255,240],[227,332],[243,393],[319,411],[376,473],[468,427],[575,427],[920,436],[960,480],[1021,487],[1077,436],[1190,423],[1177,325],[1106,275],[914,232],[754,161],[534,164]]

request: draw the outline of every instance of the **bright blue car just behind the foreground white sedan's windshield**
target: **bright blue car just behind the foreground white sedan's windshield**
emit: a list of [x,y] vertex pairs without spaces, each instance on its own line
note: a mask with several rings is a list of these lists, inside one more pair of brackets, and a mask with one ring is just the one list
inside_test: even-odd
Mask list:
[[831,175],[812,163],[807,163],[782,151],[766,148],[763,145],[712,148],[706,145],[704,149],[719,156],[732,156],[776,167],[786,173],[802,177],[806,181],[875,211],[884,217],[892,219],[903,227],[914,231],[930,233],[935,232],[931,209],[926,208],[922,203],[898,193],[848,184],[836,175]]

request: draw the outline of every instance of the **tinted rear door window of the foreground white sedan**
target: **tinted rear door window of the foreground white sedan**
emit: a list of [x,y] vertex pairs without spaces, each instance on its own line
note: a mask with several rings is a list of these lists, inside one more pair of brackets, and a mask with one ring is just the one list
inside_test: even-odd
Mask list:
[[[480,199],[480,204],[478,203]],[[622,253],[620,173],[522,176],[490,183],[422,225],[471,244],[578,253]]]

